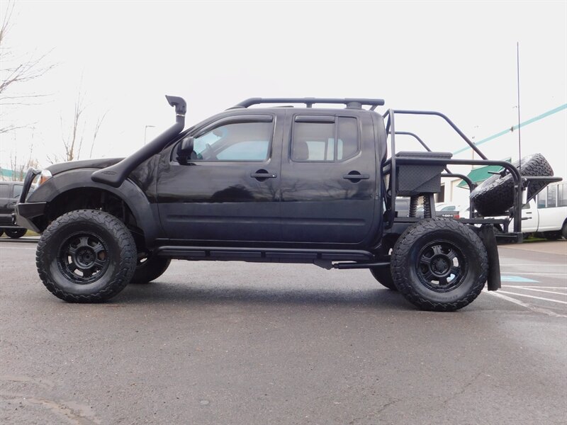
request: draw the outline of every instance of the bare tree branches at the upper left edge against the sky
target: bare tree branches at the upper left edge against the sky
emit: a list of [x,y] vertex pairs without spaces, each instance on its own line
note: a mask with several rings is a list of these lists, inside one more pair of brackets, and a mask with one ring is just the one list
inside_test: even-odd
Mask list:
[[26,127],[26,124],[4,123],[6,107],[31,105],[46,94],[30,94],[17,91],[21,84],[42,77],[45,72],[54,67],[54,64],[45,64],[47,55],[26,55],[18,57],[6,46],[6,40],[11,29],[14,2],[8,1],[4,18],[0,27],[0,107],[4,112],[3,123],[0,123],[0,134]]

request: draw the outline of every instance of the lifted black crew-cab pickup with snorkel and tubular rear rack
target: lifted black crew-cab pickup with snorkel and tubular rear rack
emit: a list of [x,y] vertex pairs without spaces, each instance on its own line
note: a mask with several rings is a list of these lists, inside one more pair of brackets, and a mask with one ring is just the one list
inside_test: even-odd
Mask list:
[[[423,310],[457,310],[487,280],[489,290],[500,287],[493,229],[503,219],[473,218],[472,202],[468,219],[435,217],[440,179],[461,176],[447,166],[503,166],[498,208],[517,218],[522,194],[533,198],[557,180],[552,171],[522,176],[514,164],[488,161],[441,113],[379,115],[381,99],[250,98],[185,131],[185,101],[167,100],[176,123],[130,157],[28,171],[17,221],[42,233],[38,272],[62,300],[108,300],[130,282],[154,280],[171,259],[186,259],[368,268]],[[326,104],[345,107],[313,107]],[[482,159],[396,152],[400,114],[443,118]],[[495,190],[461,177],[490,213]],[[396,214],[397,196],[410,198],[408,217]],[[424,217],[416,216],[420,197]],[[522,242],[521,220],[499,237]]]

